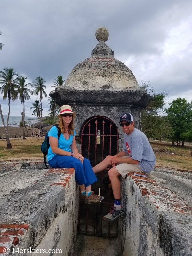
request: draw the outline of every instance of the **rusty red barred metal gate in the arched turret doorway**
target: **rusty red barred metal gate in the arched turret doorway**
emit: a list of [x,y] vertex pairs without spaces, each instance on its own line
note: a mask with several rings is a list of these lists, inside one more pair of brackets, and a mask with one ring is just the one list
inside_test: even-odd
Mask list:
[[[92,167],[100,163],[107,155],[118,153],[118,129],[107,117],[96,116],[87,121],[81,132],[81,154],[88,158]],[[110,166],[111,167],[111,166]],[[108,170],[96,174],[98,181],[92,184],[92,190],[98,195],[104,196],[100,204],[85,205],[79,203],[78,231],[80,234],[116,237],[116,221],[106,222],[106,215],[114,204],[111,183],[108,178]]]

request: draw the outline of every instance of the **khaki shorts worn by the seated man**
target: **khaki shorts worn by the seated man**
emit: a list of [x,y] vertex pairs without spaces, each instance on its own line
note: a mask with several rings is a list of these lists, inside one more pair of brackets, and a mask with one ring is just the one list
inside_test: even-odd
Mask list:
[[[125,157],[130,157],[130,156],[122,156],[123,158]],[[140,172],[143,173],[141,167],[139,164],[126,164],[119,162],[118,165],[115,166],[117,171],[121,174],[121,176],[125,179],[127,176],[128,172]]]

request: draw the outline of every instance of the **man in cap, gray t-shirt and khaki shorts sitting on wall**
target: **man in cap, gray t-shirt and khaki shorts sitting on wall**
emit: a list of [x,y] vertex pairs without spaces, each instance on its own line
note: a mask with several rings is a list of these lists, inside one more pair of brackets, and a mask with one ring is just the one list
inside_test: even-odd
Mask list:
[[[153,170],[156,158],[146,135],[134,128],[133,117],[124,113],[120,117],[120,125],[124,131],[123,150],[115,156],[107,156],[100,164],[93,167],[95,173],[105,170],[109,165],[113,167],[108,171],[113,189],[115,204],[104,216],[104,220],[113,221],[125,214],[121,205],[121,190],[118,176],[124,179],[128,172],[149,173]],[[116,165],[117,164],[117,165]],[[116,165],[116,166],[115,166]]]

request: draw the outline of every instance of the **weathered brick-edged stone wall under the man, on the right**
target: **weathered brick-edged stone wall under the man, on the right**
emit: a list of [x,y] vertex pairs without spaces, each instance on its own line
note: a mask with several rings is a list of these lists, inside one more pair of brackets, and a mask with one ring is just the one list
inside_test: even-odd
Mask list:
[[118,222],[122,255],[191,256],[192,208],[155,176],[146,176],[130,172],[121,181],[126,209]]

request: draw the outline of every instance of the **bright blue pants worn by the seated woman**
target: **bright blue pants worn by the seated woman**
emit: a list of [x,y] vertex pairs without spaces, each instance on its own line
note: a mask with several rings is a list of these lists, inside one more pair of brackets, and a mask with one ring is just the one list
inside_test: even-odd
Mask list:
[[85,184],[85,187],[88,187],[97,181],[90,161],[86,158],[84,158],[82,164],[75,157],[56,155],[48,163],[52,168],[75,168],[75,179],[79,185]]

